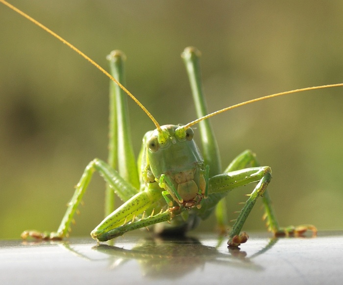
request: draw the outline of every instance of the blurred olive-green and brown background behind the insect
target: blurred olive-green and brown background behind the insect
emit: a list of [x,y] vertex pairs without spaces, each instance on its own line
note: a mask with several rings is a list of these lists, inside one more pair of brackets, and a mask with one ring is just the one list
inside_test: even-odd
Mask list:
[[[127,88],[160,124],[196,118],[180,53],[202,52],[210,111],[296,88],[343,82],[343,1],[19,1],[14,5],[107,69],[126,53]],[[108,80],[0,5],[0,238],[56,230],[84,167],[107,158]],[[212,119],[223,167],[250,148],[272,167],[282,225],[343,229],[343,88],[288,95]],[[129,101],[134,149],[153,124]],[[103,218],[94,176],[73,236]],[[229,219],[245,191],[228,196]],[[261,204],[245,230],[264,230]],[[212,231],[213,220],[199,230]]]

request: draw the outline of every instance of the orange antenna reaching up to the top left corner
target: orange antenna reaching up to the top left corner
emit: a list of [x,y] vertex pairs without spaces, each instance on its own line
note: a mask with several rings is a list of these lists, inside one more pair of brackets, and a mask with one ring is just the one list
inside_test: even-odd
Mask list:
[[69,48],[73,49],[76,51],[79,55],[81,55],[83,58],[88,60],[91,64],[93,64],[99,71],[102,71],[108,78],[110,78],[114,83],[116,83],[120,88],[123,89],[123,91],[129,95],[132,100],[134,100],[138,106],[141,107],[141,109],[147,114],[147,116],[152,120],[152,122],[155,124],[156,128],[158,130],[161,129],[161,126],[157,122],[157,120],[150,114],[150,112],[147,110],[146,107],[143,106],[143,104],[134,96],[132,95],[116,78],[114,78],[110,73],[105,71],[101,66],[99,66],[93,59],[88,57],[86,54],[84,54],[81,50],[78,48],[74,47],[71,43],[63,39],[61,36],[57,35],[55,32],[51,31],[48,27],[45,25],[39,23],[37,20],[33,19],[32,17],[28,16],[25,14],[23,11],[19,10],[15,6],[11,5],[10,3],[6,2],[5,0],[0,0],[1,3],[12,9],[13,11],[17,12],[18,14],[22,15],[25,17],[27,20],[31,21],[33,24],[36,24],[37,26],[41,27],[43,30],[47,31],[50,35],[55,37],[56,39],[60,40],[62,43],[66,44]]

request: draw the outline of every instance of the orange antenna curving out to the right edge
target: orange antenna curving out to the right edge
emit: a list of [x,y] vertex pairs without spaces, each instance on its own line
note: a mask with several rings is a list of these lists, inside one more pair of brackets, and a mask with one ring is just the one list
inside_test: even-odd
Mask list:
[[259,97],[259,98],[256,98],[256,99],[248,100],[248,101],[236,104],[236,105],[232,105],[230,107],[226,107],[226,108],[221,109],[219,111],[213,112],[213,113],[208,114],[208,115],[206,115],[204,117],[201,117],[199,119],[191,121],[190,123],[184,125],[184,127],[185,128],[189,128],[189,127],[197,124],[198,122],[200,122],[200,121],[202,121],[204,119],[208,119],[208,118],[211,118],[211,117],[216,116],[218,114],[224,113],[224,112],[226,112],[228,110],[235,109],[237,107],[241,107],[241,106],[244,106],[244,105],[247,105],[247,104],[250,104],[250,103],[262,101],[262,100],[265,100],[265,99],[269,99],[269,98],[273,98],[273,97],[277,97],[277,96],[281,96],[281,95],[297,93],[297,92],[303,92],[303,91],[309,91],[309,90],[317,90],[317,89],[330,88],[330,87],[338,87],[338,86],[343,86],[343,83],[321,85],[321,86],[314,86],[314,87],[306,87],[306,88],[295,89],[295,90],[291,90],[291,91],[280,92],[280,93],[275,93],[275,94],[272,94],[272,95],[267,95],[267,96]]

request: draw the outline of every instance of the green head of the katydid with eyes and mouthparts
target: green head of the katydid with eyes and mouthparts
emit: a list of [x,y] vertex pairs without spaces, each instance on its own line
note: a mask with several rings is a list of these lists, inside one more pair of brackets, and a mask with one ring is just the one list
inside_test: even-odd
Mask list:
[[[198,204],[199,193],[205,189],[204,163],[192,128],[182,125],[164,125],[145,136],[145,167],[149,182],[159,181],[164,174],[164,189],[185,207]],[[173,194],[175,189],[180,198]]]

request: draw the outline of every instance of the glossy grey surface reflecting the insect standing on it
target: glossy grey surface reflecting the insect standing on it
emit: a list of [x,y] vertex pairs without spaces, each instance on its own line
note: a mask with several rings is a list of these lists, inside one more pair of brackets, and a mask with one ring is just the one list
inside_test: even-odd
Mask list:
[[[219,245],[219,243],[221,243]],[[216,235],[65,242],[0,241],[0,284],[341,284],[343,232],[270,239],[250,233],[240,250]]]

